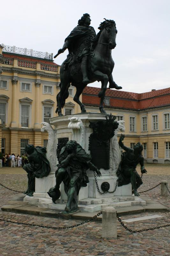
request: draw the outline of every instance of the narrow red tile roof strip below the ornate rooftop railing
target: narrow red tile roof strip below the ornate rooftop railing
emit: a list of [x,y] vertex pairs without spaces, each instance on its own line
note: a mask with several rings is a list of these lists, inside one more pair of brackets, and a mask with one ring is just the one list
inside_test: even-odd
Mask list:
[[12,54],[12,53],[6,53],[3,52],[3,56],[6,58],[15,58],[15,59],[19,59],[19,60],[27,60],[27,61],[33,61],[33,62],[40,62],[40,63],[45,63],[48,65],[54,65],[54,66],[58,66],[55,62],[53,62],[53,60],[44,60],[44,59],[40,59],[40,58],[35,58],[35,57],[29,57],[29,56],[21,56],[18,54]]

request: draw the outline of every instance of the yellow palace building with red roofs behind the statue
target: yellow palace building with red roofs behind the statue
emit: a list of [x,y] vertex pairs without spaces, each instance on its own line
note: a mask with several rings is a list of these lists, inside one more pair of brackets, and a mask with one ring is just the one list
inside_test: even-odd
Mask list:
[[[41,132],[41,123],[49,123],[56,116],[56,95],[60,91],[60,65],[53,62],[52,55],[0,45],[2,153],[21,155],[27,143],[47,146],[48,133]],[[99,112],[99,91],[87,86],[80,96],[87,112]],[[81,112],[73,101],[75,92],[70,85],[63,115]],[[146,93],[107,89],[104,102],[107,113],[125,121],[127,147],[140,142],[146,162],[170,163],[170,88]]]

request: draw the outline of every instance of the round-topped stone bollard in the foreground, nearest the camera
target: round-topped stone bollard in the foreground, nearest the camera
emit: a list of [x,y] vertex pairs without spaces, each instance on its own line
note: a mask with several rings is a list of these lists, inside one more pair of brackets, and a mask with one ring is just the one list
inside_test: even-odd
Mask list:
[[108,206],[102,211],[102,233],[103,238],[117,238],[116,210]]

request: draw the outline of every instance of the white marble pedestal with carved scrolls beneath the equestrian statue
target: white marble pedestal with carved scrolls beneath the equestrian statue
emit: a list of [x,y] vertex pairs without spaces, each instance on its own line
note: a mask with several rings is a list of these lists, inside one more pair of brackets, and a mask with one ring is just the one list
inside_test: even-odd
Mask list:
[[[63,183],[60,186],[61,197],[56,201],[56,204],[52,203],[51,198],[48,196],[47,191],[49,188],[55,186],[55,170],[56,170],[56,145],[58,139],[67,137],[69,140],[76,140],[86,153],[90,154],[89,136],[93,132],[89,127],[90,122],[96,122],[98,120],[105,120],[105,115],[99,113],[85,113],[70,116],[61,116],[51,118],[49,126],[47,123],[43,123],[43,129],[48,131],[48,147],[47,158],[52,165],[52,171],[48,177],[42,179],[36,179],[35,193],[32,197],[26,196],[24,202],[38,205],[41,208],[64,210],[67,202],[67,196],[64,192]],[[110,141],[110,169],[100,169],[101,177],[97,177],[99,189],[101,192],[101,184],[108,182],[110,184],[109,191],[115,189],[117,180],[116,171],[121,161],[121,154],[117,141],[117,133],[124,132],[124,121],[119,121],[118,129],[115,130],[115,135]],[[51,149],[52,148],[52,149]],[[50,158],[50,159],[49,159]],[[146,202],[136,196],[132,196],[131,184],[117,187],[115,193],[100,194],[96,187],[93,172],[87,170],[89,183],[87,187],[82,187],[78,195],[78,208],[82,212],[96,212],[104,209],[106,206],[125,207],[134,205],[145,205]]]

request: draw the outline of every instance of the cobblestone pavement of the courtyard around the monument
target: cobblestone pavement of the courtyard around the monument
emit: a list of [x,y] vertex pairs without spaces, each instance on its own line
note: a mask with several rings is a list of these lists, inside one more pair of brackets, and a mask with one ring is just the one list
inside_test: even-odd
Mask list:
[[[170,187],[170,165],[147,165],[148,174],[144,174],[144,184],[139,191],[152,188],[161,180],[167,180]],[[15,174],[16,173],[16,174]],[[25,190],[27,177],[21,168],[1,168],[0,183],[15,190]],[[0,186],[0,206],[7,203],[16,193]],[[150,196],[159,203],[170,208],[170,196],[160,196],[160,186],[141,195]],[[154,226],[170,224],[168,212],[146,212],[122,216],[123,219],[136,218],[152,214],[164,217],[127,223],[131,229],[143,229]],[[0,218],[26,223],[36,223],[46,226],[74,225],[80,220],[63,220],[41,216],[3,212]],[[89,222],[83,226],[52,230],[47,228],[28,227],[0,221],[0,256],[58,256],[58,255],[107,255],[107,256],[133,256],[133,255],[170,255],[170,227],[160,228],[142,233],[131,234],[117,222],[117,239],[103,239],[101,237],[101,223]]]

